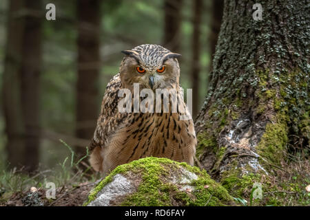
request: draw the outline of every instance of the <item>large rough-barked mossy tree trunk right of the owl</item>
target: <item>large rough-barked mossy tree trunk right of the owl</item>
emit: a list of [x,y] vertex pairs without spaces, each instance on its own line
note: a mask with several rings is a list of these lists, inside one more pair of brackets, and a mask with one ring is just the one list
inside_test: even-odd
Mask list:
[[[225,1],[205,104],[196,120],[198,159],[220,181],[272,175],[289,146],[309,146],[309,5]],[[239,176],[240,177],[240,176]]]

